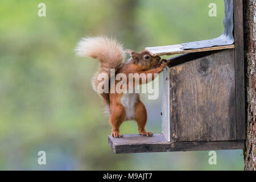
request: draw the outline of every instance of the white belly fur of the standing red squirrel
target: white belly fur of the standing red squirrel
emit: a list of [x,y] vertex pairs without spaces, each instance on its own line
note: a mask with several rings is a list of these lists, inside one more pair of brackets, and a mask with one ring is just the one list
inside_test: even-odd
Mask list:
[[126,119],[134,119],[135,104],[138,101],[139,93],[125,93],[121,98],[121,104],[125,107]]

